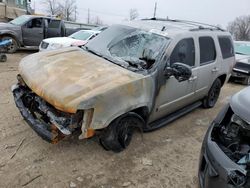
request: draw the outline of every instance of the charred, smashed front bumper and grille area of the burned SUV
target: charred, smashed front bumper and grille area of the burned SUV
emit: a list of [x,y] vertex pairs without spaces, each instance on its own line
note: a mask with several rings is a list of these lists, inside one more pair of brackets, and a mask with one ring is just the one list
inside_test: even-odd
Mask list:
[[80,128],[83,111],[75,114],[62,112],[36,95],[18,76],[18,84],[12,86],[17,108],[29,126],[44,140],[55,144]]

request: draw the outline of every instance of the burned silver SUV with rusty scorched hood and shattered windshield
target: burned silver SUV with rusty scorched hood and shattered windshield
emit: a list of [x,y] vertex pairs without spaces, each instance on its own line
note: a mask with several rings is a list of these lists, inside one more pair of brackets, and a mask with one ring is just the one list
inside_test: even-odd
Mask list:
[[81,129],[125,149],[133,131],[152,131],[203,104],[215,105],[235,62],[231,36],[217,27],[148,19],[114,25],[83,49],[24,58],[15,102],[43,139]]

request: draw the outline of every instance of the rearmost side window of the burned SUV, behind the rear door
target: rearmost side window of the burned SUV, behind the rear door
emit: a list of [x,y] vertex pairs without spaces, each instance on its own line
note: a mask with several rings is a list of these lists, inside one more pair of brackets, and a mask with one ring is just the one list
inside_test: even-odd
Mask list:
[[223,59],[234,56],[234,47],[231,38],[219,37],[219,43]]

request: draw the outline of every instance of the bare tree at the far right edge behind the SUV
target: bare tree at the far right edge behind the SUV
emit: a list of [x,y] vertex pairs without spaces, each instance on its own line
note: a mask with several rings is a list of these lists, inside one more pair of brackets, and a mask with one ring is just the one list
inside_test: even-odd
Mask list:
[[250,40],[250,15],[241,16],[230,22],[228,31],[234,36],[235,40]]

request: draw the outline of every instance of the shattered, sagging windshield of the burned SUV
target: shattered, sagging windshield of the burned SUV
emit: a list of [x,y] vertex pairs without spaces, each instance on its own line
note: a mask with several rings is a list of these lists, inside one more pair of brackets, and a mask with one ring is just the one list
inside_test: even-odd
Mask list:
[[91,40],[85,49],[127,69],[150,69],[169,39],[140,29],[114,25]]

